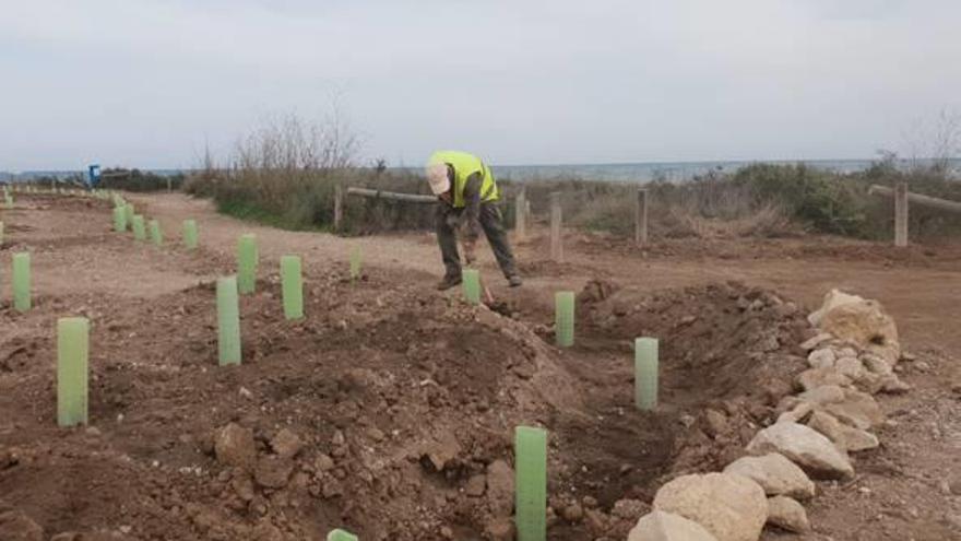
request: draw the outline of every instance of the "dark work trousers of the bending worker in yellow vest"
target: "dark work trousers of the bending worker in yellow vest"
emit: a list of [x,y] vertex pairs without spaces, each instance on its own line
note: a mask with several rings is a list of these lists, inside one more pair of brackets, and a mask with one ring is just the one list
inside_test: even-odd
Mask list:
[[[443,201],[437,203],[437,244],[440,245],[440,255],[447,269],[447,277],[449,278],[461,275],[461,256],[458,252],[456,226],[463,213],[464,209],[454,209]],[[514,256],[511,252],[510,243],[507,240],[503,216],[497,202],[482,202],[478,221],[505,278],[515,275],[518,268],[514,264]]]

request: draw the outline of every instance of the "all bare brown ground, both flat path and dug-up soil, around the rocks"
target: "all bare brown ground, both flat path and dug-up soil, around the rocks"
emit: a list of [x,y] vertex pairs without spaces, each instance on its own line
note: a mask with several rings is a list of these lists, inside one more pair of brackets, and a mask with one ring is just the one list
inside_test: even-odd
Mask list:
[[[917,356],[901,365],[914,390],[882,400],[882,446],[855,456],[857,479],[819,483],[816,533],[764,539],[961,539],[959,245],[641,251],[570,234],[556,264],[534,236],[518,250],[520,290],[484,255],[498,314],[431,289],[427,235],[290,233],[179,195],[132,199],[164,224],[163,249],[111,233],[103,202],[21,196],[0,211],[0,540],[322,539],[334,527],[482,539],[511,511],[518,424],[550,433],[549,539],[625,539],[665,479],[720,469],[771,421],[804,365],[804,316],[830,287],[885,303]],[[186,217],[197,252],[177,246]],[[241,304],[244,364],[221,368],[212,283],[233,272],[241,232],[258,234],[261,280]],[[5,274],[19,250],[33,252],[25,315]],[[302,321],[283,318],[283,254],[305,257]],[[563,351],[550,331],[559,289],[580,292],[578,344]],[[62,430],[54,329],[72,315],[92,321],[91,424]],[[656,413],[632,408],[638,336],[661,340]]]

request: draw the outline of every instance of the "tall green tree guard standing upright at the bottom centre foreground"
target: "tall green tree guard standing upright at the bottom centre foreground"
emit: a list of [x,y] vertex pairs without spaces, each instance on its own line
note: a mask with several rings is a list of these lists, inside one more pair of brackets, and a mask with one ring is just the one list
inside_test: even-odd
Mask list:
[[518,541],[547,539],[547,431],[514,428]]

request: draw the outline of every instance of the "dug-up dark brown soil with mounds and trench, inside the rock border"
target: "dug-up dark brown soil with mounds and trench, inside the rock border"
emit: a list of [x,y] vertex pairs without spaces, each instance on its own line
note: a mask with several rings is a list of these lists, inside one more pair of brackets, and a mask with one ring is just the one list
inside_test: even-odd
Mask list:
[[[664,479],[741,455],[805,367],[798,307],[741,284],[641,295],[591,283],[578,342],[558,350],[534,293],[505,317],[426,279],[368,269],[352,283],[340,266],[309,266],[308,317],[287,322],[271,274],[242,299],[235,367],[216,365],[209,281],[150,302],[3,305],[4,527],[58,541],[318,539],[334,527],[508,539],[523,424],[549,431],[549,539],[625,539]],[[93,321],[91,424],[74,430],[55,423],[51,329],[64,313]],[[653,413],[633,408],[639,336],[661,341]]]

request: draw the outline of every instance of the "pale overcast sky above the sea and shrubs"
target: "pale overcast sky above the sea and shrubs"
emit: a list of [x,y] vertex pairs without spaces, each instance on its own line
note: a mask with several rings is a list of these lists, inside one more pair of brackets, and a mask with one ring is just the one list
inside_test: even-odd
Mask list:
[[0,0],[0,170],[189,167],[332,99],[364,155],[870,157],[961,110],[961,0]]

